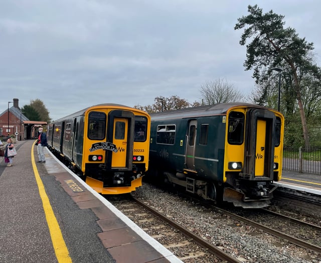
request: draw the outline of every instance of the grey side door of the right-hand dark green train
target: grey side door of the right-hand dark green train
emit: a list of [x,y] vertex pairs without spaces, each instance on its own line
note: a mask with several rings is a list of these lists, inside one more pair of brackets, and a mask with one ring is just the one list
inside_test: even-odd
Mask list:
[[196,127],[196,120],[189,122],[186,142],[186,166],[187,169],[191,170],[195,170]]

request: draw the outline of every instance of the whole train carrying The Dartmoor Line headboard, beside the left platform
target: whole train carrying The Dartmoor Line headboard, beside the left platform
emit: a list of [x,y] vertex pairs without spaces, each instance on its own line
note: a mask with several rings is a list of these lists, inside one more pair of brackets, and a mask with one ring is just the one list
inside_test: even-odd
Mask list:
[[49,124],[48,145],[102,194],[141,186],[148,169],[150,117],[118,104],[88,107]]

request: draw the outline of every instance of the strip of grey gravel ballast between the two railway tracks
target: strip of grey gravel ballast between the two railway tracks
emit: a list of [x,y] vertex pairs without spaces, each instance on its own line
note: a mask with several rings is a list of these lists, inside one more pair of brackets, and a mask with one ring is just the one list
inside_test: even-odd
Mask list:
[[321,263],[321,255],[244,225],[176,194],[144,183],[133,196],[203,236],[243,262]]

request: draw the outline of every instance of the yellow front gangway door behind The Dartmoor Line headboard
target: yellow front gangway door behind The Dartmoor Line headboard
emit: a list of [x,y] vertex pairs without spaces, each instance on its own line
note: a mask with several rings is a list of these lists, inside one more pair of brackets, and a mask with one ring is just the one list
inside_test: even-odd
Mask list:
[[126,167],[128,120],[114,119],[113,144],[118,149],[112,153],[111,167]]

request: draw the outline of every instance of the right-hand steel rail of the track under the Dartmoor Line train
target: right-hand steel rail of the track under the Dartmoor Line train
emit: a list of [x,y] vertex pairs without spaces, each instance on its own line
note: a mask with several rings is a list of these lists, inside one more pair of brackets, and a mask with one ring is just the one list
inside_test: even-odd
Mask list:
[[202,247],[208,249],[212,254],[216,255],[222,260],[231,263],[242,263],[242,261],[238,260],[237,258],[233,257],[231,254],[224,252],[222,249],[218,248],[217,246],[211,244],[210,242],[206,241],[204,238],[196,235],[192,231],[186,229],[182,225],[178,224],[177,222],[173,221],[171,218],[167,217],[166,215],[159,213],[157,210],[153,209],[152,207],[148,206],[147,204],[143,203],[142,201],[136,199],[135,197],[131,196],[133,200],[135,200],[139,205],[143,206],[145,209],[149,210],[151,213],[156,215],[157,217],[161,218],[163,221],[170,224],[172,227],[178,229],[182,232],[185,236],[192,238],[196,243],[201,245]]

